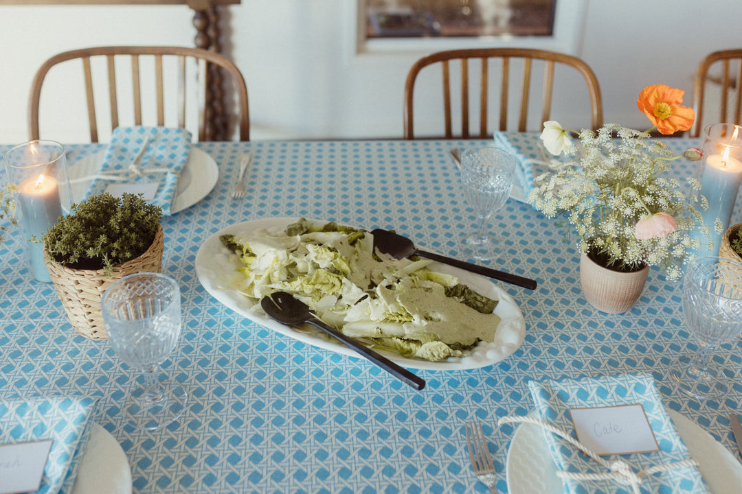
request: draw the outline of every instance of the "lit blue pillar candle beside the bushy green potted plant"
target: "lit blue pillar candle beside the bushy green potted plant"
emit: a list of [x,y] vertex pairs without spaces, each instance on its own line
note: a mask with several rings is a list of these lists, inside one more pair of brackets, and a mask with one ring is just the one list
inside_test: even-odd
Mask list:
[[[62,216],[62,202],[59,200],[56,179],[39,175],[22,181],[18,186],[18,205],[27,236],[40,238]],[[39,281],[50,282],[51,278],[44,264],[44,244],[30,241],[30,238],[27,241],[33,276]]]

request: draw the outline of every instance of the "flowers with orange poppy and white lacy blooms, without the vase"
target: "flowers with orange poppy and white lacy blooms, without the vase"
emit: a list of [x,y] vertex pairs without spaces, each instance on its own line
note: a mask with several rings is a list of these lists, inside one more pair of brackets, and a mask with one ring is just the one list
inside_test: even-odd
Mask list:
[[[578,133],[556,121],[545,122],[541,139],[546,149],[574,159],[552,163],[551,172],[537,178],[539,186],[529,201],[547,216],[562,216],[574,225],[578,247],[597,264],[623,272],[658,265],[667,278],[676,279],[692,250],[701,246],[702,238],[691,233],[708,235],[693,205],[700,202],[707,208],[708,202],[688,190],[700,190],[700,184],[689,178],[683,188],[666,177],[671,162],[681,156],[649,134],[654,128],[665,135],[688,130],[695,115],[682,101],[682,90],[663,84],[644,88],[637,105],[654,124],[646,132],[606,124]],[[572,134],[580,138],[580,153]],[[702,154],[692,148],[683,156],[697,160]]]

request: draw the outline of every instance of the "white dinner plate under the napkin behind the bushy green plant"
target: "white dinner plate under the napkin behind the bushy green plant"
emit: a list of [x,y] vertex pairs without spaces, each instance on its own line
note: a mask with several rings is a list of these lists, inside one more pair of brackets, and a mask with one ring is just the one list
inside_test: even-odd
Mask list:
[[[80,180],[93,176],[100,171],[105,151],[85,156],[70,166],[69,175],[72,187],[73,202],[82,201],[88,192],[91,180]],[[202,150],[191,147],[188,160],[180,171],[175,190],[171,214],[191,207],[209,195],[219,178],[219,167],[211,156]]]

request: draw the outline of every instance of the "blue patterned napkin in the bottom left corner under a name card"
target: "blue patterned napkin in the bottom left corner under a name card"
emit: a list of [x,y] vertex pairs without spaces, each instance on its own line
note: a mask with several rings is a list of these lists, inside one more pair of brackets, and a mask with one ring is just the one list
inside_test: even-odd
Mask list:
[[53,440],[36,494],[72,492],[97,403],[69,396],[0,399],[0,444]]

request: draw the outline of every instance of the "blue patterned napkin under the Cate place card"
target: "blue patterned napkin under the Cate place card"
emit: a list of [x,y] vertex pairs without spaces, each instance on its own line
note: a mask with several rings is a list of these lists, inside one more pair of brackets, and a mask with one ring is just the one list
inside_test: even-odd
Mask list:
[[[677,434],[660,393],[651,375],[623,374],[600,378],[565,379],[562,381],[530,381],[531,397],[536,404],[539,418],[577,439],[569,408],[606,407],[620,404],[641,404],[660,451],[628,455],[608,455],[609,463],[625,461],[636,472],[660,464],[669,464],[691,458],[680,435]],[[557,470],[579,473],[604,473],[605,469],[584,455],[567,441],[545,431]],[[575,481],[563,479],[565,493],[573,494],[630,494],[631,487],[617,481]],[[678,467],[647,475],[642,483],[642,493],[708,494],[709,490],[697,467]]]

